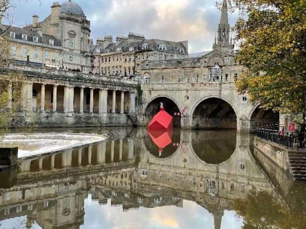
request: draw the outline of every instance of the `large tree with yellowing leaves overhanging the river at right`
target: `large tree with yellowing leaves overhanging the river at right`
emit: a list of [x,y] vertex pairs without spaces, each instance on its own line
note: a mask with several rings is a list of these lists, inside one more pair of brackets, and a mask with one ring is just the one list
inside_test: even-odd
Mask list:
[[228,0],[241,17],[234,30],[237,62],[247,67],[239,93],[261,108],[306,112],[306,1]]

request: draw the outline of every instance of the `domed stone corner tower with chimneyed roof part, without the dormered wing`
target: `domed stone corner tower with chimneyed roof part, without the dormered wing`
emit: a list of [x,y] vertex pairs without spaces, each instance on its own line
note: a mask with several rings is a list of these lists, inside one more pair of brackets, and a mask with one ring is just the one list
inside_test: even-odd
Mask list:
[[38,16],[33,15],[33,23],[25,29],[48,34],[61,41],[61,67],[64,69],[90,71],[90,21],[77,3],[71,0],[62,4],[53,2],[51,14],[45,20],[38,22]]

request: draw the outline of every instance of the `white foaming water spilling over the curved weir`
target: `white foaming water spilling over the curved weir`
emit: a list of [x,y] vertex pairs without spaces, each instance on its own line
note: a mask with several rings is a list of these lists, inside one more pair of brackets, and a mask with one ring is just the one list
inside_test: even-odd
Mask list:
[[103,136],[92,134],[18,134],[4,136],[0,146],[18,146],[18,158],[23,158],[91,144],[104,139]]

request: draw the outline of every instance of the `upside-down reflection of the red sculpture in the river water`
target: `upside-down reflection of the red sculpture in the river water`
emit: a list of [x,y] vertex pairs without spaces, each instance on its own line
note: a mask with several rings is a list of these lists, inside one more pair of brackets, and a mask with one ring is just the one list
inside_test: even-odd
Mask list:
[[172,142],[173,130],[148,130],[148,133],[153,142],[158,147],[159,157],[161,156],[163,148]]

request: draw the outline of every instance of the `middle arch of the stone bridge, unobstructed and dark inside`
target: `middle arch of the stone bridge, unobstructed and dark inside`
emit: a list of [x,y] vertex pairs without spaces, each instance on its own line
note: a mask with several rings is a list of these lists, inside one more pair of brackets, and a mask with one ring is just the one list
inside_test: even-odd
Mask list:
[[199,100],[193,110],[192,125],[196,129],[237,129],[237,111],[226,98],[218,95]]

